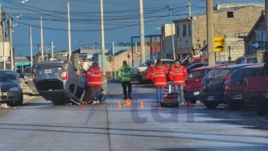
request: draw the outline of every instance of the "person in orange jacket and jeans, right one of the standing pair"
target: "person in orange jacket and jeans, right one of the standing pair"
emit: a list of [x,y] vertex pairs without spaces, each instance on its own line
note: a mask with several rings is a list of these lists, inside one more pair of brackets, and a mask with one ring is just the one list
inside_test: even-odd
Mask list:
[[172,65],[170,68],[170,71],[168,73],[168,77],[170,80],[173,82],[173,85],[175,86],[175,92],[177,92],[178,95],[178,100],[180,104],[186,104],[186,100],[184,99],[184,84],[185,84],[185,79],[187,77],[188,73],[185,67],[181,65],[179,60],[175,60],[175,64]]

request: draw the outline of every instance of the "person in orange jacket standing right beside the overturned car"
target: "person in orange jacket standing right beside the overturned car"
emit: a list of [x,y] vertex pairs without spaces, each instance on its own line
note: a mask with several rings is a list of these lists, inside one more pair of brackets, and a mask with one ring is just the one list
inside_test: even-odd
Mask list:
[[102,86],[102,72],[98,63],[93,62],[85,74],[87,78],[87,93],[84,103],[87,104],[93,98],[92,104],[100,104],[100,88]]

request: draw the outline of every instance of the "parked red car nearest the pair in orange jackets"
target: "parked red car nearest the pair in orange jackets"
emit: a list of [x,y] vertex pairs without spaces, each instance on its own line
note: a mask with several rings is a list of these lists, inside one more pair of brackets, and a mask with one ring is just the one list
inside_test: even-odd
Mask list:
[[212,69],[216,69],[227,65],[229,64],[214,65],[214,66],[192,69],[188,73],[188,77],[186,78],[185,81],[186,86],[184,87],[184,94],[186,100],[190,101],[191,104],[195,104],[197,100],[199,100],[199,91],[201,89],[201,83],[204,76]]

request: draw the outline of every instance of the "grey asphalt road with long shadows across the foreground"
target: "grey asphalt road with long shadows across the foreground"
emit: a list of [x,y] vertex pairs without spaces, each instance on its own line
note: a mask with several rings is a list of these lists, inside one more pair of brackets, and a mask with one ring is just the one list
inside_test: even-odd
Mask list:
[[160,108],[145,85],[124,106],[120,84],[109,89],[104,104],[54,106],[37,96],[1,109],[0,150],[268,150],[268,116],[252,108]]

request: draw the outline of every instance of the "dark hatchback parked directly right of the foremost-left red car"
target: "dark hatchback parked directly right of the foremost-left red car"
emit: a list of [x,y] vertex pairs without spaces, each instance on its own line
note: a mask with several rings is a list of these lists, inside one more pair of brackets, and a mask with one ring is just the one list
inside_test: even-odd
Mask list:
[[219,104],[225,104],[225,84],[230,79],[231,73],[249,65],[252,64],[229,65],[210,71],[203,78],[200,101],[208,108],[216,108]]

